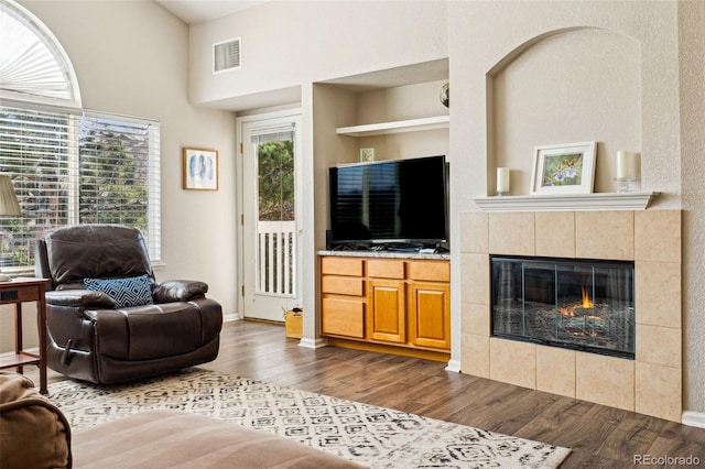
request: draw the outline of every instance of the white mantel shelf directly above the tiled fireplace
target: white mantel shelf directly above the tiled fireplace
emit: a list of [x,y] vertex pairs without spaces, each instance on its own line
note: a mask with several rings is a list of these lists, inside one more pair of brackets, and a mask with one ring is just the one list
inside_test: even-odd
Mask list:
[[657,192],[471,198],[486,211],[646,210]]

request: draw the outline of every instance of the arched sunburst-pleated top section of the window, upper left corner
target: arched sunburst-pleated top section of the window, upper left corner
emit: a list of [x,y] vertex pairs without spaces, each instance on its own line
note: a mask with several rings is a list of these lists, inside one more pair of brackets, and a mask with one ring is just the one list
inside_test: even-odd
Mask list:
[[78,80],[44,24],[12,0],[0,2],[0,97],[80,108]]

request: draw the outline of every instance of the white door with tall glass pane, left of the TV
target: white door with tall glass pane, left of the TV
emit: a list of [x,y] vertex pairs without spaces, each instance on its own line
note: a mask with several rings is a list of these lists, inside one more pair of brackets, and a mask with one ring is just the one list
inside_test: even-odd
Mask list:
[[283,320],[300,306],[295,167],[300,116],[242,123],[243,306]]

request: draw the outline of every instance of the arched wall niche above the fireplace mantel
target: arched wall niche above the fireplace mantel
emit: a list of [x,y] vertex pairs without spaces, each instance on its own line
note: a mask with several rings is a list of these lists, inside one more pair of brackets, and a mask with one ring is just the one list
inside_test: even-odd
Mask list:
[[487,73],[488,195],[511,168],[511,194],[531,188],[534,148],[597,141],[594,192],[614,192],[615,153],[641,152],[641,46],[597,28],[527,41]]

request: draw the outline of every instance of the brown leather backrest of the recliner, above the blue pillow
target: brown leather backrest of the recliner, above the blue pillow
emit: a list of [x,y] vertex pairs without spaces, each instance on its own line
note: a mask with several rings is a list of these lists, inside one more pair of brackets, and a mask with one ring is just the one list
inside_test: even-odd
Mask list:
[[154,277],[142,233],[121,225],[78,225],[51,231],[36,242],[36,271],[51,279],[51,290],[83,288],[87,277]]

